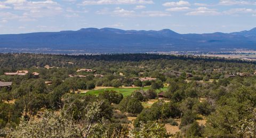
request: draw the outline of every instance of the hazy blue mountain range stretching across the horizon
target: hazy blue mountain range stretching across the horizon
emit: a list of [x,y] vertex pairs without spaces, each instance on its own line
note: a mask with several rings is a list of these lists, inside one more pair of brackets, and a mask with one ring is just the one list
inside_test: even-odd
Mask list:
[[256,50],[256,28],[211,34],[179,34],[170,29],[82,28],[77,31],[0,35],[0,48],[51,48],[99,53]]

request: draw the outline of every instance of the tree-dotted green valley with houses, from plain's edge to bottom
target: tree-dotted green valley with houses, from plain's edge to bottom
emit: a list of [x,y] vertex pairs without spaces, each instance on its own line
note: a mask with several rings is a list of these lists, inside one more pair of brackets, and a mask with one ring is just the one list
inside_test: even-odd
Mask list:
[[0,136],[254,137],[256,64],[0,54]]

